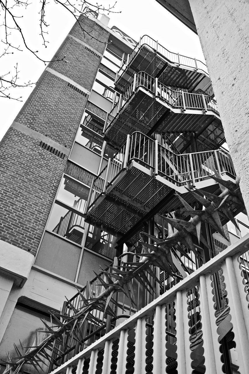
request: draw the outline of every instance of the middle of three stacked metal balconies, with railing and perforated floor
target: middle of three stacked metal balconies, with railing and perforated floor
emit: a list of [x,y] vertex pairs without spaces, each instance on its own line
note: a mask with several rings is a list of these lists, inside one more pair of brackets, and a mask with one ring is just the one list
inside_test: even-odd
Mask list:
[[[174,91],[144,71],[120,95],[107,114],[105,139],[121,146],[133,131],[182,134],[208,132],[208,138],[218,148],[225,141],[217,103],[210,96]],[[207,148],[210,149],[210,148]]]

